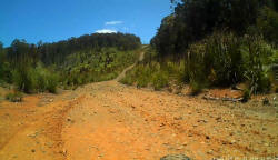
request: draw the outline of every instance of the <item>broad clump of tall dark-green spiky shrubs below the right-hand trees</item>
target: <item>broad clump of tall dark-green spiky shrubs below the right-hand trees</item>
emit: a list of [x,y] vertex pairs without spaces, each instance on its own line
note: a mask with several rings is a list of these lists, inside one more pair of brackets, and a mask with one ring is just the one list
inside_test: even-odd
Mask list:
[[215,86],[237,83],[242,77],[240,40],[232,33],[214,33],[188,49],[186,62],[190,81],[209,81]]

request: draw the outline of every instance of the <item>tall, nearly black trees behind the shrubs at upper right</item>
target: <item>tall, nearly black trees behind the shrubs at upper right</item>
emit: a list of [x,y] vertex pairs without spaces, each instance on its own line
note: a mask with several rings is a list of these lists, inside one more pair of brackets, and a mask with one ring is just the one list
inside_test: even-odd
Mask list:
[[[179,59],[188,47],[215,30],[245,34],[261,8],[277,0],[171,0],[173,13],[161,21],[151,44],[160,57]],[[272,30],[272,29],[271,29]]]

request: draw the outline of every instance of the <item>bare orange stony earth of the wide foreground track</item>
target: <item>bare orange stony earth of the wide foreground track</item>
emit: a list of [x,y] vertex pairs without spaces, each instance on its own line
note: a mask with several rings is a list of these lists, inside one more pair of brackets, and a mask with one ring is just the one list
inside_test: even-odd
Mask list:
[[158,160],[170,153],[275,159],[277,104],[206,101],[117,80],[0,102],[0,160]]

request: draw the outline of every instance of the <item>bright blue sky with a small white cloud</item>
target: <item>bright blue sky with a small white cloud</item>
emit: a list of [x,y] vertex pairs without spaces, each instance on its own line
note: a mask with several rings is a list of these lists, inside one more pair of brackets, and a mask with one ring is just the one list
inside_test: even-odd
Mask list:
[[66,40],[93,32],[121,31],[148,43],[170,0],[1,0],[0,41],[37,43]]

